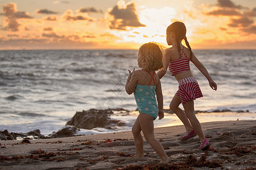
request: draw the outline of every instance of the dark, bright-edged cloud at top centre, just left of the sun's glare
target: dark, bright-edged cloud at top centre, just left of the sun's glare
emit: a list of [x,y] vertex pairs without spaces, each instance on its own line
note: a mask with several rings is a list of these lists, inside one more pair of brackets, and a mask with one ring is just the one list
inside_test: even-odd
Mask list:
[[139,22],[133,2],[114,6],[108,11],[107,16],[110,29],[126,30],[126,27],[146,27]]

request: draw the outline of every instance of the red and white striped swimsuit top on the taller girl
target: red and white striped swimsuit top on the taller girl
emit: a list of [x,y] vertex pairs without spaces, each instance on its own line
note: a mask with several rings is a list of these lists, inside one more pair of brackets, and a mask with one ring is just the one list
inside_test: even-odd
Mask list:
[[190,70],[189,59],[188,59],[187,55],[185,54],[184,49],[185,49],[185,47],[183,46],[183,49],[181,49],[180,58],[170,61],[169,65],[168,65],[169,70],[171,71],[172,75]]

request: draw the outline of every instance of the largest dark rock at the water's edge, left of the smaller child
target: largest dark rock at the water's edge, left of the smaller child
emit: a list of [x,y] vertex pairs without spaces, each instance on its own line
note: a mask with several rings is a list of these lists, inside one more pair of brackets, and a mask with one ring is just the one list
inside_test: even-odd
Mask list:
[[[121,111],[121,109],[118,109]],[[113,120],[110,118],[110,114],[113,114],[113,109],[90,109],[89,111],[76,112],[66,125],[72,125],[81,129],[93,129],[93,128],[106,128],[114,129],[114,126],[124,126],[125,123],[119,120]]]

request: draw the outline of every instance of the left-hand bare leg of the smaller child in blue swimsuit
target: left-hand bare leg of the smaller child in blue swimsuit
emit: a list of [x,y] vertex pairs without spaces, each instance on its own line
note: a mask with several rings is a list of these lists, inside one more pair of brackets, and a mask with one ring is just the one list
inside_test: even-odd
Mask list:
[[136,148],[136,154],[133,156],[133,158],[143,158],[143,138],[141,135],[141,124],[139,122],[139,116],[137,117],[137,120],[135,121],[133,125],[133,129],[131,130],[133,132],[134,137],[134,143]]

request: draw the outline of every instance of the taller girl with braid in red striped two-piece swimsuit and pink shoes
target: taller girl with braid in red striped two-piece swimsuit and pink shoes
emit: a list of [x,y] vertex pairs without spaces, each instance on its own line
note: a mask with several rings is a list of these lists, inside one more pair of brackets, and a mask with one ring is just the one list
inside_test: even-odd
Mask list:
[[[167,68],[169,68],[172,76],[175,76],[179,83],[179,90],[177,90],[172,98],[170,108],[176,113],[177,117],[180,118],[185,126],[186,133],[180,140],[187,141],[189,138],[198,135],[201,141],[199,149],[207,150],[210,143],[208,139],[205,138],[194,109],[194,100],[203,97],[203,94],[196,78],[190,70],[189,61],[207,78],[209,86],[213,90],[217,90],[217,84],[213,81],[204,65],[196,58],[195,54],[193,54],[186,37],[186,32],[187,29],[182,22],[174,22],[167,27],[166,41],[167,44],[172,45],[172,47],[166,50],[166,65],[164,69],[158,71],[158,76],[162,78],[164,74],[166,74]],[[182,40],[185,40],[187,48],[181,44]],[[179,108],[180,104],[183,104],[184,111]]]

